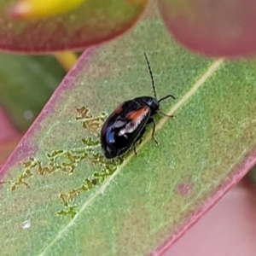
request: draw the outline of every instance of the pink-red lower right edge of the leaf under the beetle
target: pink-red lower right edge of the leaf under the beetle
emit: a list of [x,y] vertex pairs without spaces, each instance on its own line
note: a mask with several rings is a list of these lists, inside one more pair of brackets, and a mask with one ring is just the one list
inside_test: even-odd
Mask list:
[[149,253],[150,256],[157,256],[166,253],[170,247],[180,239],[187,230],[192,228],[198,220],[200,220],[212,207],[214,207],[218,201],[220,201],[223,196],[232,189],[237,183],[241,181],[242,177],[245,177],[247,172],[249,172],[253,166],[256,165],[256,145],[252,152],[245,155],[244,160],[233,167],[231,170],[232,175],[228,177],[228,181],[222,183],[218,189],[215,189],[212,196],[207,200],[199,209],[195,210],[190,214],[188,220],[182,225],[182,227],[177,230],[172,236],[169,236],[160,247],[156,247],[152,253]]

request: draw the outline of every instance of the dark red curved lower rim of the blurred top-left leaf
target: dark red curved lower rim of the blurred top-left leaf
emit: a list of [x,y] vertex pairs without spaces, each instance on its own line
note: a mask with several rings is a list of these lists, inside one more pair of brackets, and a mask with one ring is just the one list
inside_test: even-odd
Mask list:
[[67,47],[65,44],[61,45],[61,47],[56,48],[55,44],[53,44],[53,47],[51,49],[22,49],[22,48],[15,48],[15,49],[9,49],[5,47],[5,45],[0,44],[0,51],[9,52],[9,53],[17,53],[17,54],[30,54],[30,55],[45,55],[45,54],[52,54],[54,52],[58,51],[84,51],[84,49],[87,49],[89,47],[93,47],[102,43],[108,43],[111,40],[114,40],[116,38],[119,38],[125,32],[129,32],[133,26],[136,26],[138,20],[140,20],[145,13],[145,10],[148,7],[148,1],[145,3],[142,11],[140,14],[135,17],[135,19],[131,20],[131,22],[126,23],[123,28],[117,32],[109,33],[107,36],[103,38],[96,38],[93,40],[90,40],[87,43],[81,42],[79,44],[73,44],[73,47]]

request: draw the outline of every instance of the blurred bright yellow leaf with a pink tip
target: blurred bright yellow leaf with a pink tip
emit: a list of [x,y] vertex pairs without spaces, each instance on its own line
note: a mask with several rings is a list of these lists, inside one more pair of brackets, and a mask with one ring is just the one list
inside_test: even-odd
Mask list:
[[85,0],[21,0],[11,9],[11,15],[21,20],[40,19],[65,14],[77,8]]

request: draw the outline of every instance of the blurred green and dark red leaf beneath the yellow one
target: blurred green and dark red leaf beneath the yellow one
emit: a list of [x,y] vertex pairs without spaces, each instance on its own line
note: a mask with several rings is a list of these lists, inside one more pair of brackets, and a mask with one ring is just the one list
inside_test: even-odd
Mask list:
[[84,49],[114,38],[142,15],[148,0],[86,0],[77,9],[44,20],[14,20],[0,3],[0,49],[49,52]]

